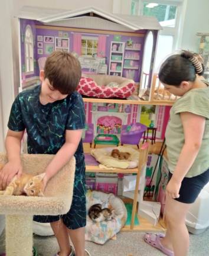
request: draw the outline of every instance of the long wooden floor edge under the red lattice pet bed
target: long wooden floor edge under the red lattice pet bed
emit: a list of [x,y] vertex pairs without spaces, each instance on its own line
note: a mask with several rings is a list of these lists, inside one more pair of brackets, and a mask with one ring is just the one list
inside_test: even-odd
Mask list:
[[120,100],[120,99],[109,99],[109,98],[84,98],[84,102],[89,103],[118,103],[118,104],[136,104],[136,105],[173,105],[175,101],[143,101],[143,100]]

